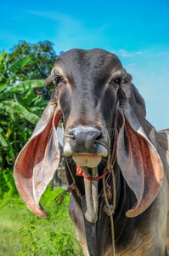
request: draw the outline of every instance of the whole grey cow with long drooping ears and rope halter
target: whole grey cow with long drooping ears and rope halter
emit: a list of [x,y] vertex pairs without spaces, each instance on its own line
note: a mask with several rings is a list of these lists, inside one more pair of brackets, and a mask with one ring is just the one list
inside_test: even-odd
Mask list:
[[54,91],[14,166],[26,206],[48,217],[39,201],[59,166],[61,121],[70,218],[84,255],[169,255],[169,130],[148,122],[132,76],[104,49],[70,49],[44,84]]

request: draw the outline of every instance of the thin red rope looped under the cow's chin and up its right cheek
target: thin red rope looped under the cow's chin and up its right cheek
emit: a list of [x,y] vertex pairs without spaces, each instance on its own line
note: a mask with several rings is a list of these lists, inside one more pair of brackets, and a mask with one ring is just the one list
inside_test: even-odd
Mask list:
[[[115,117],[115,143],[114,143],[114,147],[113,147],[113,153],[112,153],[112,158],[111,158],[111,164],[113,162],[113,159],[115,157],[115,148],[116,148],[116,143],[117,143],[117,119]],[[84,172],[82,172],[82,166],[79,166],[76,164],[76,176],[80,176],[80,177],[86,177],[89,180],[98,180],[102,177],[104,177],[108,172],[110,172],[110,170],[107,170],[106,172],[104,172],[104,174],[102,174],[99,177],[87,177]]]

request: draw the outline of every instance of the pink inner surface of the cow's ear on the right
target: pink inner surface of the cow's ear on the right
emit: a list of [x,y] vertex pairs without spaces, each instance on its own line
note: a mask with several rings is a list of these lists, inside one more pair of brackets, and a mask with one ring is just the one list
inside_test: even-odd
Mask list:
[[125,120],[118,138],[117,160],[138,201],[127,212],[127,217],[138,216],[155,200],[161,188],[163,167],[160,156],[152,143],[133,131]]

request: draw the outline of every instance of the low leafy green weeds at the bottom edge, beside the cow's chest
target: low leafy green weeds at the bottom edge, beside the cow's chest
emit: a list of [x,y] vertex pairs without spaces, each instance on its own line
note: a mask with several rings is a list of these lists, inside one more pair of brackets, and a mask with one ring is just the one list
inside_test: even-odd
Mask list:
[[[22,236],[21,242],[24,245],[22,252],[19,256],[24,255],[58,255],[58,256],[76,256],[75,245],[77,241],[70,232],[59,229],[57,232],[54,230],[44,230],[43,234],[38,234],[37,228],[28,221],[20,229]],[[78,255],[80,255],[78,253]],[[82,255],[82,254],[81,254]]]

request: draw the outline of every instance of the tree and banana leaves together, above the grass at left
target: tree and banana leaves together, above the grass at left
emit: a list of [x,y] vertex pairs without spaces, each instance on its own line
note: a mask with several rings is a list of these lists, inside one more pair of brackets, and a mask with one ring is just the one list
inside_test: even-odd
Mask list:
[[48,41],[20,41],[9,55],[5,50],[1,53],[0,169],[13,168],[47,106],[51,89],[44,88],[42,79],[50,74],[56,57]]

